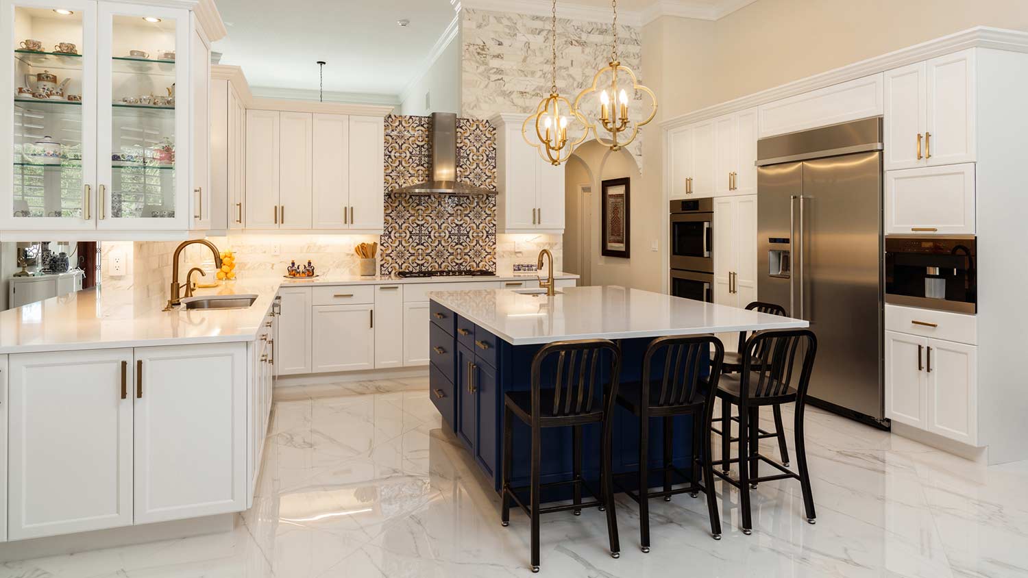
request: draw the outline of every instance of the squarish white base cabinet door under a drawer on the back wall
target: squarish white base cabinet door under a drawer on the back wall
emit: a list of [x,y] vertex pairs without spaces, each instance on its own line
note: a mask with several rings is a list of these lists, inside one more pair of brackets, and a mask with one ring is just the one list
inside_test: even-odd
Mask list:
[[375,367],[374,305],[321,305],[313,309],[315,373]]

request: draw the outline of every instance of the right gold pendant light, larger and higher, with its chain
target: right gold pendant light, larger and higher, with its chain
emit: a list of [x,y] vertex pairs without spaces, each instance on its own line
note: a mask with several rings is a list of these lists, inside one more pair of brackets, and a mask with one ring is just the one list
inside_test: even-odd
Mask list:
[[[611,7],[614,10],[614,42],[611,45],[611,62],[605,67],[599,69],[596,75],[592,77],[592,86],[579,92],[578,98],[575,99],[575,113],[586,124],[587,129],[592,130],[593,134],[596,136],[596,141],[612,151],[617,151],[627,147],[629,143],[634,141],[635,137],[638,136],[639,127],[649,123],[657,116],[657,95],[650,88],[639,84],[632,69],[622,65],[618,61],[618,0],[612,0]],[[623,80],[630,80],[630,82],[622,84],[622,86],[630,88],[630,94],[625,88],[619,90],[619,74]],[[610,78],[605,79],[607,76],[610,76]],[[589,115],[582,108],[583,99],[599,89],[601,82],[610,84],[611,92],[608,94],[605,88],[600,91],[599,117],[596,119],[596,122],[590,122],[588,120],[590,118]],[[650,94],[650,99],[653,101],[650,115],[641,121],[631,120],[628,114],[628,99],[630,95],[634,97],[636,90]],[[600,129],[602,129],[602,133]]]

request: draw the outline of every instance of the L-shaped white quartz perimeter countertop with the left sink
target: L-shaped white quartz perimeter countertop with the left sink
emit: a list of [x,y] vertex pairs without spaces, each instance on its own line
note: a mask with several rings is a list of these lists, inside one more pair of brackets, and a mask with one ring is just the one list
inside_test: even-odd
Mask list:
[[[556,275],[555,275],[556,276]],[[558,278],[577,278],[561,273]],[[535,273],[501,273],[489,277],[423,277],[329,275],[286,279],[257,278],[198,288],[196,296],[256,295],[244,309],[176,309],[161,311],[133,301],[132,292],[102,287],[54,297],[0,311],[0,354],[116,347],[224,343],[257,339],[264,315],[280,286],[439,283],[536,279]]]

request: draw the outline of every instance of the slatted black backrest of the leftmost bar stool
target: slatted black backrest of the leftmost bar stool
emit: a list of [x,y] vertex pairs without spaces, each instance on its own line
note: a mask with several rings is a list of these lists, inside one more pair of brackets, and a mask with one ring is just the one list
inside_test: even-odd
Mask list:
[[[604,353],[607,360],[604,360]],[[621,373],[621,349],[607,339],[556,341],[545,345],[531,360],[531,411],[541,416],[543,389],[543,363],[556,356],[556,375],[553,380],[553,409],[546,417],[574,417],[591,413],[597,394],[608,396],[608,411],[618,395],[618,376]],[[600,373],[607,363],[610,388],[597,389],[602,379]],[[546,384],[549,385],[549,384]],[[599,387],[602,384],[599,383]]]

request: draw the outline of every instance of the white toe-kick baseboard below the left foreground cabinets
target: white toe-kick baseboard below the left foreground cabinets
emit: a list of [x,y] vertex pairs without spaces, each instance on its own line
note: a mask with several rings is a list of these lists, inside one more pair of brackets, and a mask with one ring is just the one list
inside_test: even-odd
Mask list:
[[159,540],[174,540],[189,536],[231,532],[236,514],[222,513],[189,519],[176,519],[158,524],[143,524],[125,528],[111,528],[94,532],[80,532],[65,536],[33,538],[0,544],[0,562],[29,560],[48,555],[71,554],[87,550],[143,544]]

